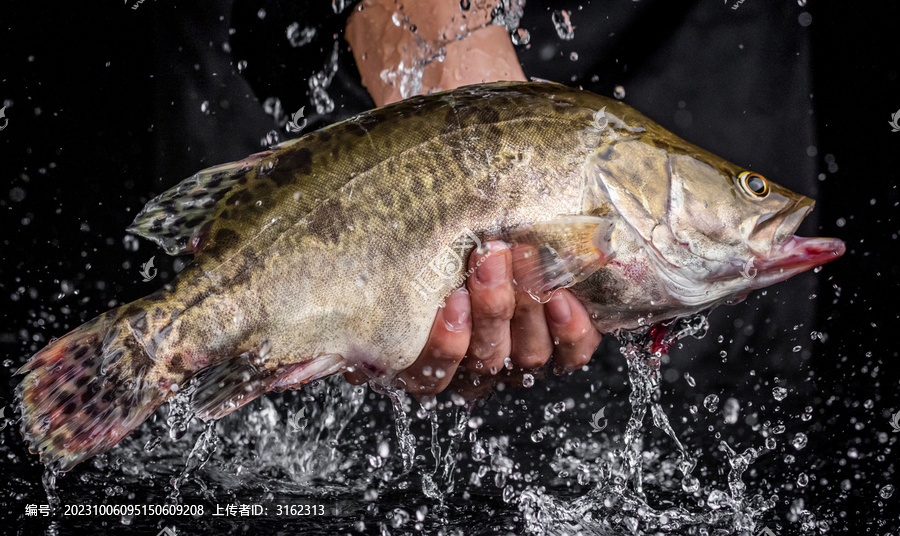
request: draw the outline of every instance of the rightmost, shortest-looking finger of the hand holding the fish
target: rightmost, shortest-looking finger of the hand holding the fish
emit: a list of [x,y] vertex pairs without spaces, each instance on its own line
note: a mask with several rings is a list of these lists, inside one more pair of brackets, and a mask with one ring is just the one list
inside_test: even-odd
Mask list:
[[572,372],[586,365],[600,345],[600,334],[581,302],[571,292],[558,290],[547,302],[546,313],[553,337],[554,369]]

